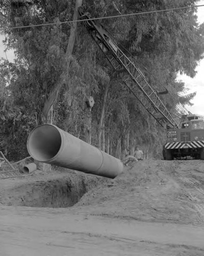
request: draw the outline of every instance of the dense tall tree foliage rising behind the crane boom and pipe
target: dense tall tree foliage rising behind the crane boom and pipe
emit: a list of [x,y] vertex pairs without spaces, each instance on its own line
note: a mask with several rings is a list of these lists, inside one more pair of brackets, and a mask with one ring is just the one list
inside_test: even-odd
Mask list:
[[[92,16],[106,17],[190,7],[197,2],[84,0],[83,5]],[[6,30],[4,43],[8,50],[15,50],[15,60],[10,63],[2,59],[0,65],[0,145],[5,154],[10,159],[28,154],[25,146],[28,134],[42,123],[46,99],[63,74],[62,88],[54,104],[54,124],[86,139],[90,113],[85,101],[93,96],[93,145],[102,148],[103,144],[108,153],[120,157],[121,152],[131,153],[139,144],[147,157],[159,157],[164,141],[163,130],[124,87],[82,24],[78,25],[70,65],[66,70],[65,53],[72,25],[64,22],[73,18],[75,1],[11,3],[10,0],[1,3],[2,27],[57,24]],[[97,21],[139,66],[156,91],[168,89],[169,94],[161,98],[171,112],[178,103],[191,104],[194,96],[180,96],[185,84],[176,81],[176,74],[180,72],[193,77],[203,57],[204,26],[198,25],[195,13],[195,8],[188,8]],[[103,139],[98,144],[100,136]]]

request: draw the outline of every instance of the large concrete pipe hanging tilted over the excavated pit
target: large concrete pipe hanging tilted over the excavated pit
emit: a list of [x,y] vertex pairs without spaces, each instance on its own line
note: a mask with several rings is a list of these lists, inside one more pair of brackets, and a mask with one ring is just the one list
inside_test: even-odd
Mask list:
[[52,124],[37,126],[27,141],[29,154],[39,162],[115,178],[123,170],[121,161],[64,132]]

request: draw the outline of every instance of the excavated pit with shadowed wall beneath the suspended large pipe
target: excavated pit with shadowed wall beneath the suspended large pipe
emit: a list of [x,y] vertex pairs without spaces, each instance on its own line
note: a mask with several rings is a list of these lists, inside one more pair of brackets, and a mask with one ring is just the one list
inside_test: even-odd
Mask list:
[[69,174],[49,180],[18,182],[0,191],[3,205],[30,207],[71,207],[90,189],[106,182],[106,178]]

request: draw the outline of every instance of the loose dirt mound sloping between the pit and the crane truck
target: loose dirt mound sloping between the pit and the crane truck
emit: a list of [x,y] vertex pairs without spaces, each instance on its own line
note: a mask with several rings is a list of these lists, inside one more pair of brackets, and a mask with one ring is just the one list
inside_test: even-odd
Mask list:
[[174,163],[162,160],[127,167],[109,184],[91,189],[75,206],[87,207],[93,215],[145,221],[192,223],[196,215],[176,179]]

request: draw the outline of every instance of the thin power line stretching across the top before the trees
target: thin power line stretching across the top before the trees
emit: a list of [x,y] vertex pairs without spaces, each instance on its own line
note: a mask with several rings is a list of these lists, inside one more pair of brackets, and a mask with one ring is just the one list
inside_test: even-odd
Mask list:
[[167,11],[184,10],[184,9],[198,8],[198,7],[204,7],[204,5],[176,7],[176,8],[163,9],[163,10],[155,10],[155,11],[147,11],[147,12],[138,12],[138,13],[129,13],[129,14],[121,14],[121,15],[114,15],[114,16],[107,16],[107,17],[98,17],[98,18],[90,18],[90,19],[69,20],[68,22],[56,22],[56,23],[46,23],[46,24],[44,23],[44,24],[37,24],[37,25],[28,25],[28,26],[19,26],[19,27],[10,27],[10,28],[0,28],[0,30],[21,29],[21,28],[41,27],[41,26],[52,26],[52,25],[58,25],[58,24],[69,24],[69,23],[74,23],[74,22],[87,22],[87,20],[99,20],[99,19],[119,18],[119,17],[136,16],[136,15],[150,14],[150,13],[158,13],[158,12],[167,12]]

